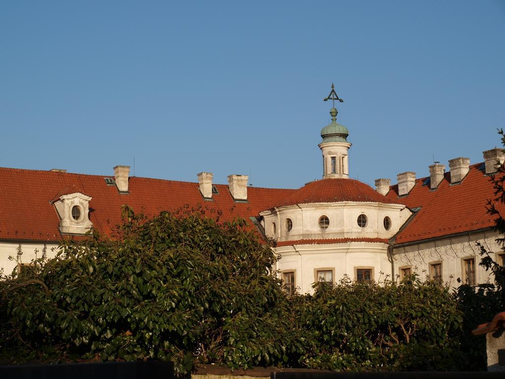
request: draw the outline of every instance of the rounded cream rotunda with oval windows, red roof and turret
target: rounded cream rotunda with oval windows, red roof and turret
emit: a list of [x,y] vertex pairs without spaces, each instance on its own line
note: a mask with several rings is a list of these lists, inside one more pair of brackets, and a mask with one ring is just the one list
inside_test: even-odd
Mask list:
[[315,283],[345,277],[364,282],[391,278],[389,239],[412,215],[405,205],[349,178],[349,132],[336,122],[337,113],[333,107],[332,122],[321,130],[323,179],[260,213],[288,292],[312,293]]

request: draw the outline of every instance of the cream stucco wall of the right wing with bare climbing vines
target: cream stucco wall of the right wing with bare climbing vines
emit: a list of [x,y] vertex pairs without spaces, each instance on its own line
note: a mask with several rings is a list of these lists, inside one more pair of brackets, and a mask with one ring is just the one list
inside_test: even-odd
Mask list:
[[[493,282],[490,272],[479,266],[481,257],[476,242],[479,241],[491,254],[493,259],[496,253],[503,253],[496,243],[498,235],[495,232],[479,232],[453,238],[396,247],[393,249],[394,274],[400,273],[401,267],[412,267],[421,279],[425,279],[430,272],[430,262],[442,261],[442,280],[453,287],[460,283],[457,278],[465,280],[463,260],[475,258],[475,274],[477,283]],[[495,259],[496,260],[496,259]]]

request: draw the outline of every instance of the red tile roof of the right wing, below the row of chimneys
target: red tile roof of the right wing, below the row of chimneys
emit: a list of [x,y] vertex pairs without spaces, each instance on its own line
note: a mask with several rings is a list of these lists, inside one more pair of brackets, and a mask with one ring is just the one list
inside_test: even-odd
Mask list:
[[[394,244],[412,243],[494,226],[495,216],[487,214],[486,204],[494,199],[489,176],[480,169],[482,163],[470,166],[460,184],[450,184],[450,172],[434,190],[427,178],[416,179],[407,196],[398,197],[398,185],[392,185],[386,197],[409,208],[421,207],[412,220],[396,235]],[[499,206],[503,209],[503,206]]]

